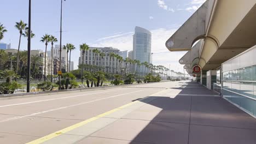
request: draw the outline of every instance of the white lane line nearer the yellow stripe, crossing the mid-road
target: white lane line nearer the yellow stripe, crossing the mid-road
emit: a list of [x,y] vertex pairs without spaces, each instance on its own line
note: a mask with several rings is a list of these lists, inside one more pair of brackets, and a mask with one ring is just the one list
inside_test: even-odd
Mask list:
[[141,91],[144,91],[144,90],[139,90],[139,91],[130,92],[130,93],[124,93],[124,94],[118,94],[118,95],[114,95],[114,96],[107,97],[107,98],[101,98],[101,99],[91,100],[91,101],[87,101],[87,102],[84,102],[84,103],[79,103],[79,104],[74,104],[74,105],[69,105],[69,106],[63,106],[63,107],[59,107],[59,108],[56,108],[56,109],[50,109],[50,110],[46,110],[46,111],[42,111],[42,112],[32,113],[32,114],[30,114],[30,115],[24,115],[24,116],[19,116],[19,117],[12,117],[12,118],[8,118],[8,119],[4,119],[3,121],[0,121],[0,123],[2,123],[2,122],[8,122],[8,121],[13,121],[13,120],[15,120],[15,119],[20,119],[20,118],[24,118],[24,117],[31,117],[31,116],[39,115],[39,114],[46,113],[46,112],[51,112],[51,111],[57,111],[57,110],[67,109],[67,108],[69,108],[69,107],[74,107],[74,106],[78,106],[78,105],[93,103],[93,102],[99,101],[99,100],[104,100],[104,99],[110,99],[110,98],[120,97],[121,95],[126,95],[126,94],[131,94],[131,93],[137,93],[137,92],[141,92]]

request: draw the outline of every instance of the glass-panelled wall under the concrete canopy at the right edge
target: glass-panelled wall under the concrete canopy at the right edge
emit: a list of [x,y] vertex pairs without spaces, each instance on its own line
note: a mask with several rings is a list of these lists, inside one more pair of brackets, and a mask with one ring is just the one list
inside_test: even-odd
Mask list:
[[[256,49],[222,64],[223,97],[256,116]],[[255,90],[254,90],[255,89]]]

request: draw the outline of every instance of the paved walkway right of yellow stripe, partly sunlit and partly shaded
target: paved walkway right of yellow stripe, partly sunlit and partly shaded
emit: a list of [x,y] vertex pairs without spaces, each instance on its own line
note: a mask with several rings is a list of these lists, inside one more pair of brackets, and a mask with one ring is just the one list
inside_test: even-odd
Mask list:
[[256,119],[197,83],[179,82],[44,143],[255,144]]

